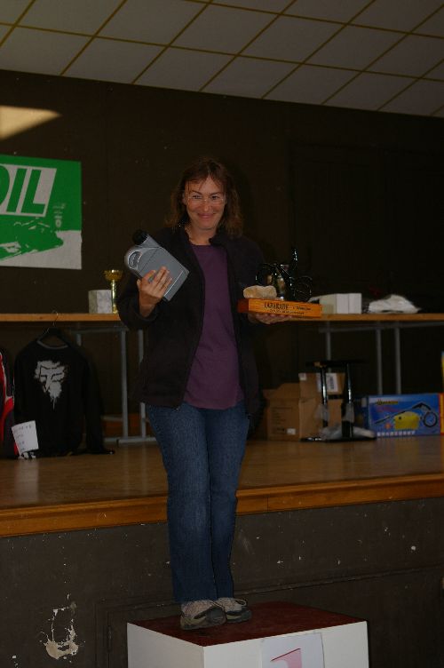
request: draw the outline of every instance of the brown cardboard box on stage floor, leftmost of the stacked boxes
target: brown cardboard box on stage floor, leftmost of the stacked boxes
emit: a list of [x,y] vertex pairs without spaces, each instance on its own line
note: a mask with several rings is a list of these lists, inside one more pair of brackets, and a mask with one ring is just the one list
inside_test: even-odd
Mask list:
[[299,384],[284,383],[269,392],[267,436],[270,441],[299,439]]

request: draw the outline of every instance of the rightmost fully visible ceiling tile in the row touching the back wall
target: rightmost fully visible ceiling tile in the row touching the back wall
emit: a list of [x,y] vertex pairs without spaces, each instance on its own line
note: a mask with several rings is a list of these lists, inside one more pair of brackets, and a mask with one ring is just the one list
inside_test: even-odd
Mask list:
[[364,72],[347,83],[345,88],[326,104],[331,107],[377,110],[412,81],[413,79],[406,76],[372,75]]

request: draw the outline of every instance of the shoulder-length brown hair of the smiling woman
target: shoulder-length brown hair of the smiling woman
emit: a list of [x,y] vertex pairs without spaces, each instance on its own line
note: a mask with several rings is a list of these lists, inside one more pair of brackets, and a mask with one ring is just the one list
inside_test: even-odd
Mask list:
[[243,220],[239,195],[234,186],[233,177],[222,163],[210,157],[198,158],[183,171],[178,185],[171,193],[170,213],[165,220],[165,225],[168,227],[186,225],[188,214],[186,212],[186,205],[183,202],[186,184],[188,182],[202,182],[208,178],[218,183],[226,196],[224,213],[218,227],[223,227],[229,236],[241,236]]

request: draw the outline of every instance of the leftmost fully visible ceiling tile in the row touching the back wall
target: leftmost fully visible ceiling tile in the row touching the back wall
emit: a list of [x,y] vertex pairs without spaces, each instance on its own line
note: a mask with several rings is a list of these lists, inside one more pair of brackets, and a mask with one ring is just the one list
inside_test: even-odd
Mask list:
[[67,69],[67,76],[131,83],[162,51],[162,46],[94,39]]

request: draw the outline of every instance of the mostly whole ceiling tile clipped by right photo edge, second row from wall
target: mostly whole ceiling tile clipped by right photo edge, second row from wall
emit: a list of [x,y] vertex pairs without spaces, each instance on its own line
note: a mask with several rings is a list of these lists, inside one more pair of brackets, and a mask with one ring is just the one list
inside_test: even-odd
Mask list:
[[369,69],[389,74],[422,76],[438,65],[443,56],[442,40],[437,37],[411,35],[405,37]]

